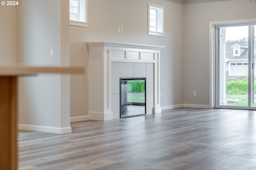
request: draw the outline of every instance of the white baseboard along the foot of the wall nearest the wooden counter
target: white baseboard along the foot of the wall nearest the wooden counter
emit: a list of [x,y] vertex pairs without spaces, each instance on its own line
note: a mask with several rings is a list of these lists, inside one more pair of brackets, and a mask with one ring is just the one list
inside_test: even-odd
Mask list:
[[47,126],[38,126],[38,125],[26,125],[26,124],[18,124],[19,130],[32,130],[32,131],[39,131],[39,132],[50,132],[50,133],[71,133],[71,127],[47,127]]

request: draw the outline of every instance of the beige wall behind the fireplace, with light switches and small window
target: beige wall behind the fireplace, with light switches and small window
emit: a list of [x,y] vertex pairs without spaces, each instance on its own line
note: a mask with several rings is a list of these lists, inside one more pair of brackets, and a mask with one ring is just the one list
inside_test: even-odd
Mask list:
[[[165,37],[147,34],[148,2],[165,7]],[[183,0],[88,1],[89,27],[70,26],[70,64],[85,63],[87,69],[84,77],[71,75],[71,117],[88,115],[88,52],[84,42],[105,41],[165,46],[161,50],[160,59],[161,105],[168,109],[183,103],[182,3]],[[124,27],[124,32],[118,32],[118,25]],[[76,107],[77,103],[84,103],[84,107]]]

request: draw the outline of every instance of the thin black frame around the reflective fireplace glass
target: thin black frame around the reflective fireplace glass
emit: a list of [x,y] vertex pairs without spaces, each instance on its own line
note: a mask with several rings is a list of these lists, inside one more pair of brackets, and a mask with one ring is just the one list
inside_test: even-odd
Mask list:
[[[145,103],[133,103],[133,102],[126,102],[127,105],[140,105],[145,107],[145,113],[142,114],[136,114],[136,115],[128,115],[123,116],[122,115],[122,81],[124,80],[144,80],[145,81]],[[134,116],[141,116],[146,115],[146,77],[120,77],[120,118],[125,117],[134,117]]]

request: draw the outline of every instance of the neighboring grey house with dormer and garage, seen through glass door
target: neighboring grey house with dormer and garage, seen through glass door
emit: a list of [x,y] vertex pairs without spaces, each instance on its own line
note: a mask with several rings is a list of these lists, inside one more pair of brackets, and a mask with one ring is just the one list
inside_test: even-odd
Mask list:
[[226,42],[226,76],[248,76],[248,56],[248,42]]

